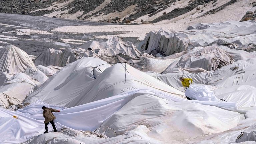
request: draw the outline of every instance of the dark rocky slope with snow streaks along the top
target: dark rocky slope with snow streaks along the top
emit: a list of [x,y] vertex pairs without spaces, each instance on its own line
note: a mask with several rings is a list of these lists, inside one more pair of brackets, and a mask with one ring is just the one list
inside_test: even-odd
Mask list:
[[[196,10],[214,14],[238,0],[0,0],[0,13],[112,23],[150,24]],[[254,7],[254,2],[248,2]],[[208,6],[206,10],[203,7]],[[243,7],[244,5],[241,5]]]

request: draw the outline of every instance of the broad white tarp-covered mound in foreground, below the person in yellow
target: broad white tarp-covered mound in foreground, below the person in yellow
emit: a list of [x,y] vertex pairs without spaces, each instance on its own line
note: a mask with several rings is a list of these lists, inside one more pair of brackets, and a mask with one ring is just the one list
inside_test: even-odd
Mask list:
[[[224,127],[232,127],[232,122],[230,121],[229,126],[226,125],[227,121],[224,122],[225,118],[222,114],[217,114],[217,111],[220,111],[217,107],[198,105],[189,101],[173,102],[155,98],[151,95],[141,95],[129,101],[107,119],[99,128],[99,132],[109,137],[115,137],[133,130],[138,125],[145,125],[150,129],[147,135],[161,140],[163,143],[171,140],[183,140],[186,137],[195,138],[198,135],[223,131],[222,128]],[[226,113],[225,110],[221,111]],[[230,114],[232,115],[232,113]],[[199,120],[197,116],[202,119]],[[216,124],[210,124],[209,117]],[[192,125],[188,125],[189,123],[192,123]],[[207,128],[203,125],[211,125],[212,127]]]

